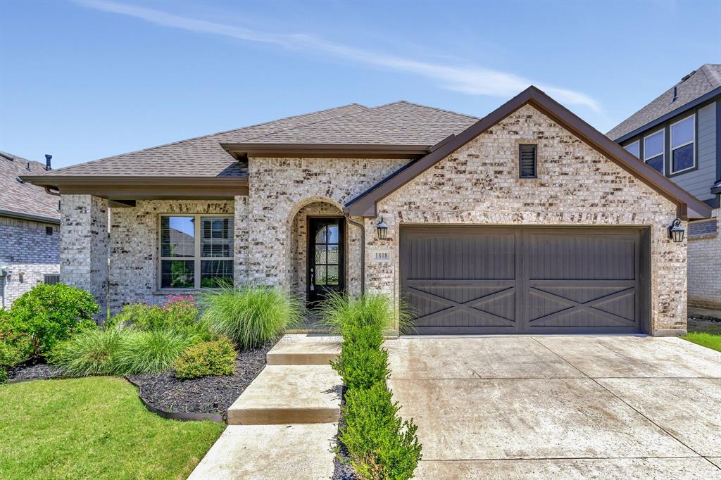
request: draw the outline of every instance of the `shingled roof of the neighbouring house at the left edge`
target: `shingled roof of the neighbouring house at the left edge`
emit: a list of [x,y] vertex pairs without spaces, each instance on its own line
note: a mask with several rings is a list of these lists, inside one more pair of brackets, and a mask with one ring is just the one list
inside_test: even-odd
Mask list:
[[20,182],[26,174],[43,174],[45,165],[0,151],[0,216],[60,223],[58,200],[43,187]]

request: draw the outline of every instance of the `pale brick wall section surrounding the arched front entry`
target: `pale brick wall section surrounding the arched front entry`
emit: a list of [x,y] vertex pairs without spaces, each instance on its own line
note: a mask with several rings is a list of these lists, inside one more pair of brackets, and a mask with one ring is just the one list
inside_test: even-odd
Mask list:
[[[392,174],[406,160],[251,158],[249,167],[249,280],[290,288],[296,213],[324,202],[340,210],[348,200]],[[356,219],[357,220],[357,219]],[[360,228],[347,228],[346,285],[360,290]]]

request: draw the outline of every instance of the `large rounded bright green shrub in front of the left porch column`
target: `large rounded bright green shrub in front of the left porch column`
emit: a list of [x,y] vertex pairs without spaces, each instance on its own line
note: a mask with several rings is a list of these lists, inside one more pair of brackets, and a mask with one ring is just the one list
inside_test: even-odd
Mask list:
[[56,342],[84,327],[97,327],[92,316],[99,307],[87,291],[63,283],[40,283],[12,304],[11,322],[32,339],[32,354],[45,355]]

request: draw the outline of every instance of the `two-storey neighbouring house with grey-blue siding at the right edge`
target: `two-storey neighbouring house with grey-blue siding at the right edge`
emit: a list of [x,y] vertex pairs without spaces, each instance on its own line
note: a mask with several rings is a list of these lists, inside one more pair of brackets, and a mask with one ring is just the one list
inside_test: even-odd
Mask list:
[[721,65],[692,71],[608,135],[714,209],[689,224],[689,309],[721,317]]

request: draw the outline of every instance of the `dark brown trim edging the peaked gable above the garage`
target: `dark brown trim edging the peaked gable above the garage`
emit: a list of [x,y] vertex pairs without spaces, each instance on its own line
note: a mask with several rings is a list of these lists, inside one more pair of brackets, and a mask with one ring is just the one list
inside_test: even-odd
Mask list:
[[595,128],[585,123],[580,117],[560,105],[535,86],[529,86],[520,94],[510,99],[496,110],[486,115],[477,123],[464,130],[459,135],[454,135],[446,141],[431,148],[430,154],[421,159],[411,162],[393,174],[381,180],[378,184],[363,192],[358,197],[350,200],[344,210],[350,215],[375,216],[376,203],[384,197],[406,185],[412,179],[422,174],[431,166],[437,164],[449,154],[472,141],[478,135],[484,133],[493,125],[508,117],[523,105],[530,104],[537,110],[543,112],[574,135],[581,138],[585,143],[600,152],[607,158],[614,161],[630,174],[637,177],[646,185],[659,192],[664,197],[676,203],[677,214],[681,218],[707,218],[711,215],[711,209],[706,203],[697,199],[686,190],[678,187],[668,178],[658,173],[647,164],[625,151],[618,143],[603,135]]

